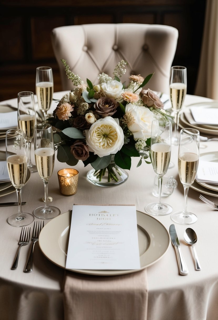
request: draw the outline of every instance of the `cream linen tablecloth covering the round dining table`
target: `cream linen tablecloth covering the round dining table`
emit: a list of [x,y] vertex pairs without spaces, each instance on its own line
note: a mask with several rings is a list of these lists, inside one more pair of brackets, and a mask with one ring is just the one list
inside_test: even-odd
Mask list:
[[[54,93],[54,99],[60,99],[63,92]],[[36,100],[37,101],[37,100]],[[212,101],[207,98],[186,95],[184,107],[192,103]],[[0,105],[10,104],[17,107],[17,99],[2,101]],[[52,103],[56,108],[57,101]],[[0,140],[0,150],[5,151],[5,140]],[[218,151],[217,141],[200,142],[200,153]],[[32,162],[34,150],[32,143]],[[184,192],[179,180],[178,146],[172,146],[171,162],[166,176],[174,176],[178,182],[172,195],[162,199],[170,204],[173,212],[183,210]],[[73,196],[60,194],[57,172],[69,168],[66,163],[58,162],[55,158],[54,170],[48,183],[48,194],[53,198],[52,204],[60,209],[61,214],[72,210],[73,204],[134,204],[136,210],[145,213],[145,206],[154,202],[152,194],[155,173],[152,164],[142,163],[136,167],[139,158],[132,158],[128,180],[114,187],[99,187],[86,179],[91,169],[84,167],[79,161],[75,169],[79,171],[78,189]],[[184,260],[189,273],[179,274],[175,248],[169,244],[161,259],[147,267],[148,281],[148,320],[217,320],[218,319],[218,211],[214,210],[199,199],[200,191],[190,188],[188,194],[188,210],[194,212],[198,220],[191,225],[182,225],[171,220],[171,214],[153,216],[169,230],[175,224],[181,244]],[[24,212],[33,213],[34,209],[43,204],[43,181],[38,172],[31,173],[28,182],[22,188]],[[218,196],[218,193],[217,195]],[[216,197],[206,196],[216,201]],[[16,192],[10,194],[0,192],[0,202],[16,202]],[[218,198],[217,198],[218,204]],[[0,207],[0,319],[1,320],[62,320],[64,319],[63,280],[65,269],[48,260],[35,244],[33,271],[24,273],[30,244],[21,248],[18,267],[11,270],[18,248],[20,228],[12,227],[7,218],[18,210],[17,206]],[[44,220],[45,224],[50,220]],[[33,223],[30,225],[31,230]],[[195,230],[198,241],[195,244],[201,265],[201,270],[195,270],[192,248],[183,240],[186,228]],[[89,320],[89,319],[84,319]],[[93,319],[90,319],[93,320]],[[104,320],[104,319],[102,319]],[[117,319],[111,319],[117,320]],[[124,319],[123,319],[124,320]],[[132,320],[137,320],[132,315]]]

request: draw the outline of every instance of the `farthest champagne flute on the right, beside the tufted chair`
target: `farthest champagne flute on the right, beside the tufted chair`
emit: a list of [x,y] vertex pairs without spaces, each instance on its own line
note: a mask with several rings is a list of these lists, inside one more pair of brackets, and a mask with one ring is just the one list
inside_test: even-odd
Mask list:
[[170,100],[172,109],[175,113],[175,129],[172,137],[172,144],[179,144],[178,127],[179,127],[179,111],[183,106],[187,91],[187,70],[185,67],[171,67],[170,73]]

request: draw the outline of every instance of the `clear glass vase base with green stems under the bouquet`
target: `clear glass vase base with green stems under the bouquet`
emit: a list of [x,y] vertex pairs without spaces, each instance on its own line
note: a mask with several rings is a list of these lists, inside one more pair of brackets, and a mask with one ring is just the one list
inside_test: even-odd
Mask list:
[[113,187],[125,182],[128,179],[128,173],[115,164],[112,155],[111,162],[107,167],[100,170],[90,170],[86,179],[96,186]]

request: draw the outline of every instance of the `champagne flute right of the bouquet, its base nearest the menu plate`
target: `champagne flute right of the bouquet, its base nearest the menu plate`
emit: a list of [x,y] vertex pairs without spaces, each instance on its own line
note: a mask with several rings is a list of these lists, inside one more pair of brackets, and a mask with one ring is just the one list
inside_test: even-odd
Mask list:
[[151,133],[151,160],[154,172],[158,176],[158,202],[146,205],[145,211],[161,216],[173,211],[169,204],[161,203],[163,176],[167,173],[171,153],[171,123],[167,120],[153,120]]

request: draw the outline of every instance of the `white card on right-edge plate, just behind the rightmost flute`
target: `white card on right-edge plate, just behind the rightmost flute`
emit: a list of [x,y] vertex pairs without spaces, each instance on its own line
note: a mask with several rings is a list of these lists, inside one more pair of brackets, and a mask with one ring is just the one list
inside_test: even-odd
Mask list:
[[199,161],[196,180],[198,182],[218,184],[218,162]]

